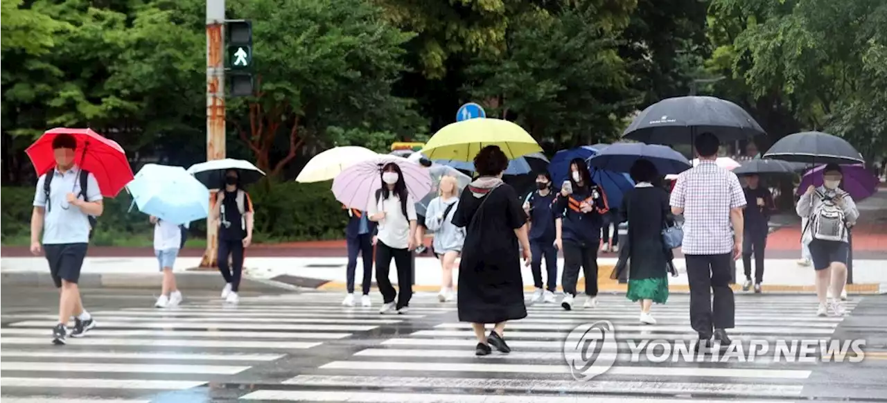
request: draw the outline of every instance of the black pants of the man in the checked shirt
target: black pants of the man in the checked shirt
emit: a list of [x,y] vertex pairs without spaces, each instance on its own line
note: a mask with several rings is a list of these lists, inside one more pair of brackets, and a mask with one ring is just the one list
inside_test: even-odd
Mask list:
[[731,253],[684,255],[684,259],[690,283],[690,325],[701,338],[710,338],[713,329],[733,329],[736,306],[730,280],[736,266]]

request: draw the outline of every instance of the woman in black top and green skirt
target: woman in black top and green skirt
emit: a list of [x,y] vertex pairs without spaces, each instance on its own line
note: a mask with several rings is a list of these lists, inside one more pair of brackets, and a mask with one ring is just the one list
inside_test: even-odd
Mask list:
[[628,221],[629,261],[626,298],[640,300],[640,322],[655,324],[650,314],[653,303],[668,299],[668,265],[674,256],[662,241],[663,223],[671,221],[668,192],[653,183],[658,173],[647,159],[637,160],[631,169],[634,189],[622,201],[623,220]]

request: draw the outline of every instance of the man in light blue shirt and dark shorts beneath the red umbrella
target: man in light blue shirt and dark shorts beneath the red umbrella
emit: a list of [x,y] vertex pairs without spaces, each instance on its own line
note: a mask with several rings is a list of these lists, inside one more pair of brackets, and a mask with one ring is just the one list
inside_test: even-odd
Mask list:
[[96,177],[74,164],[76,148],[74,136],[59,134],[52,139],[56,166],[37,180],[31,214],[31,253],[44,250],[52,281],[59,288],[59,324],[52,329],[56,345],[66,344],[71,317],[75,321],[72,337],[82,337],[96,327],[83,309],[77,281],[94,226],[90,216],[102,215],[104,205]]

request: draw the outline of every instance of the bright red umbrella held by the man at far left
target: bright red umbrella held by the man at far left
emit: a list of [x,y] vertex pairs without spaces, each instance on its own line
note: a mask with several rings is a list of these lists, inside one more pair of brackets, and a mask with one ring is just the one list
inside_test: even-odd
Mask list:
[[34,164],[38,175],[45,174],[55,167],[52,153],[52,139],[56,135],[67,134],[77,140],[75,164],[90,171],[98,181],[102,196],[114,198],[117,193],[132,181],[133,174],[126,151],[115,142],[92,131],[89,128],[53,128],[25,151]]

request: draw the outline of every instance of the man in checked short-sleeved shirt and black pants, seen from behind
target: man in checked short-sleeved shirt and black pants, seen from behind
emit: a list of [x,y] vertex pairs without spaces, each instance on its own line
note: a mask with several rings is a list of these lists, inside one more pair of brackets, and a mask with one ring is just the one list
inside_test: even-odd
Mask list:
[[742,252],[746,202],[736,174],[715,165],[718,137],[703,133],[696,136],[694,145],[699,165],[679,174],[671,191],[671,212],[683,214],[685,220],[682,252],[690,283],[690,324],[699,333],[698,350],[709,348],[711,337],[722,346],[731,343],[726,334],[726,329],[734,328],[730,282],[736,270],[734,260]]

